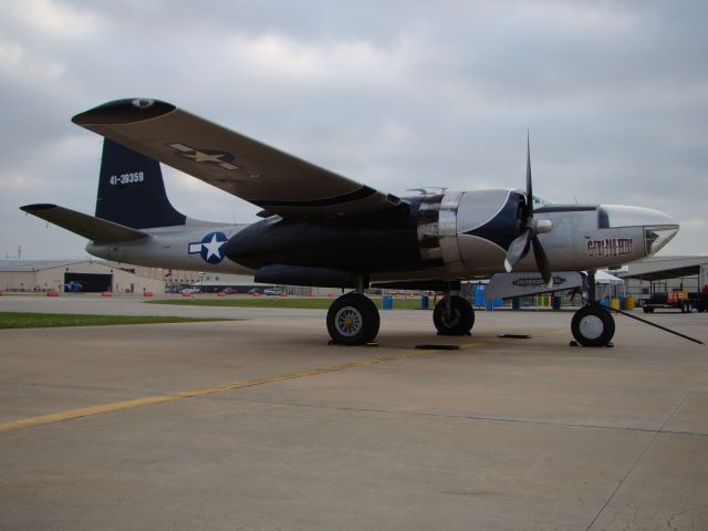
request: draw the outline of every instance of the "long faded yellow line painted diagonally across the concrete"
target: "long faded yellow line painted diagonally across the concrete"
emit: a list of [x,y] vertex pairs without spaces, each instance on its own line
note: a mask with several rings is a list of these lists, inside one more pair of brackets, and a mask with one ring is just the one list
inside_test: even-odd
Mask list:
[[[537,337],[551,335],[559,333],[558,331],[539,333]],[[501,339],[490,340],[476,340],[472,343],[461,345],[462,348],[475,348],[483,345],[492,345],[501,343]],[[455,351],[451,351],[455,352]],[[197,396],[211,395],[215,393],[223,393],[225,391],[242,389],[246,387],[254,387],[258,385],[273,384],[277,382],[284,382],[288,379],[306,378],[309,376],[316,376],[324,373],[334,373],[337,371],[346,371],[348,368],[366,367],[368,365],[376,365],[379,363],[398,362],[403,360],[410,360],[414,357],[429,356],[430,354],[444,354],[450,353],[450,351],[438,350],[420,350],[414,352],[405,352],[402,354],[393,354],[389,356],[372,357],[368,360],[360,360],[357,362],[343,363],[341,365],[333,365],[330,367],[317,367],[309,371],[298,371],[293,373],[280,374],[275,376],[266,376],[263,378],[256,379],[242,379],[238,382],[229,382],[226,384],[215,385],[212,387],[202,387],[199,389],[180,391],[168,395],[148,396],[145,398],[136,398],[134,400],[115,402],[112,404],[102,404],[92,407],[82,407],[79,409],[69,409],[66,412],[54,413],[51,415],[41,415],[39,417],[22,418],[19,420],[10,420],[8,423],[0,423],[0,433],[13,431],[17,429],[30,428],[33,426],[42,426],[44,424],[61,423],[63,420],[72,420],[74,418],[90,417],[93,415],[102,415],[104,413],[119,412],[122,409],[129,409],[132,407],[149,406],[154,404],[162,404],[165,402],[175,402],[183,398],[194,398]]]

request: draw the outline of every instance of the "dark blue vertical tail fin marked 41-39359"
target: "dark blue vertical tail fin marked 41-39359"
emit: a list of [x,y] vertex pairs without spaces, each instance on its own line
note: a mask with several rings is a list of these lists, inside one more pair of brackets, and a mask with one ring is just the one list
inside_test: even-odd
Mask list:
[[167,199],[159,163],[107,138],[96,217],[133,229],[185,225],[186,219]]

